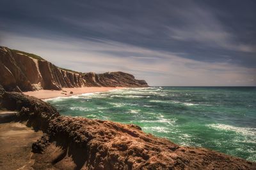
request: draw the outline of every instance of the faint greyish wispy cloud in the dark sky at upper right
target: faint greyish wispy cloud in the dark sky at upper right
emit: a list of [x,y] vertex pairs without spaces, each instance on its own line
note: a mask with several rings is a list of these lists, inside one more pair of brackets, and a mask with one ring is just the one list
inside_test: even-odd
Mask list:
[[216,15],[202,6],[190,4],[189,8],[185,11],[179,10],[178,13],[182,16],[184,25],[168,25],[170,38],[225,50],[256,53],[256,44],[243,44],[237,41],[236,34],[228,31]]

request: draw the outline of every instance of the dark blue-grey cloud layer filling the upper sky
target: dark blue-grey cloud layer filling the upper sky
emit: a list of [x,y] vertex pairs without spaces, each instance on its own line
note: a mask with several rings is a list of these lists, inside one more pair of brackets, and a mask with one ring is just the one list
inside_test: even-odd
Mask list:
[[[0,31],[31,38],[113,41],[209,63],[256,67],[255,1],[2,0]],[[1,32],[0,32],[1,33]],[[5,36],[4,33],[0,36]],[[0,43],[1,43],[0,38]],[[154,62],[134,52],[100,53]],[[163,57],[163,56],[162,56]]]

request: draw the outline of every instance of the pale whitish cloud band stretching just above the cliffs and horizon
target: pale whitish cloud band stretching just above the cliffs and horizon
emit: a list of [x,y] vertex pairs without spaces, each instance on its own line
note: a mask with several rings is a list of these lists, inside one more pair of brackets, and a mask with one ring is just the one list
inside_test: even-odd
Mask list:
[[[227,62],[202,62],[177,54],[148,50],[115,41],[58,41],[23,36],[8,36],[4,44],[43,56],[60,67],[77,71],[126,71],[150,85],[255,85],[256,69]],[[54,47],[54,48],[52,48]],[[104,52],[102,52],[104,51]],[[109,53],[106,53],[108,51]],[[122,57],[113,53],[132,52]],[[146,62],[145,62],[146,60]],[[237,81],[239,80],[239,81]]]

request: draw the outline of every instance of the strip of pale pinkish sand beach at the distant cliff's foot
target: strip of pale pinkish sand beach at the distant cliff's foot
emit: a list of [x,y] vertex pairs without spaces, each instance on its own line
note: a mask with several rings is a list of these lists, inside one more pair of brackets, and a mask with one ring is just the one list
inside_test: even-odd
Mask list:
[[[54,97],[68,97],[76,94],[93,93],[93,92],[108,92],[109,90],[125,89],[125,87],[76,87],[63,88],[62,90],[38,90],[24,92],[28,96],[34,96],[38,99],[49,99]],[[70,94],[70,92],[73,92]]]

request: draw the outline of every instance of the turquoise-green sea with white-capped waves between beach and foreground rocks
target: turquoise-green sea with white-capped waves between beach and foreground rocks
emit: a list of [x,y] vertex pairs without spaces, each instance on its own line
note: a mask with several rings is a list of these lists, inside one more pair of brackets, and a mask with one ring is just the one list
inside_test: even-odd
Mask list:
[[185,146],[256,161],[256,88],[148,87],[47,99],[61,115],[139,125]]

